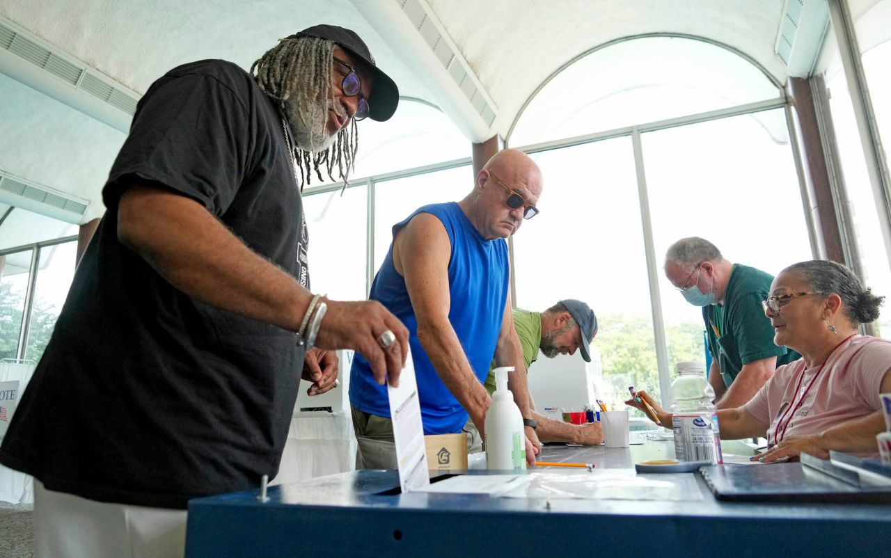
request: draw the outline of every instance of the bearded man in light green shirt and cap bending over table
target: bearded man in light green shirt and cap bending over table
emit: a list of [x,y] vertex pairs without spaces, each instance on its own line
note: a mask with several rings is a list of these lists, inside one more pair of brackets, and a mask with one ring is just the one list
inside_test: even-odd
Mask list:
[[[552,359],[558,354],[582,352],[585,362],[591,362],[588,345],[597,335],[597,316],[587,304],[573,299],[562,300],[543,312],[514,308],[513,328],[517,331],[519,344],[523,348],[523,360],[529,366],[538,358],[541,351]],[[495,392],[495,361],[489,368],[486,378],[486,391]],[[567,441],[575,444],[594,445],[603,441],[600,423],[569,425],[560,420],[548,418],[535,410],[535,403],[529,401],[532,409],[535,433],[540,441]],[[473,423],[468,421],[466,430],[475,433]]]

